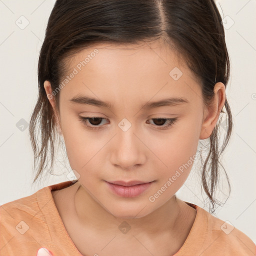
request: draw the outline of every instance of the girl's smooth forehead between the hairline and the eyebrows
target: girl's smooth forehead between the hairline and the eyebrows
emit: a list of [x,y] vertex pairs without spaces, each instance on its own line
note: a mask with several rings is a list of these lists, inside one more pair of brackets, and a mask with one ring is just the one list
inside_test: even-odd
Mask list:
[[78,51],[67,64],[67,75],[75,75],[61,90],[66,99],[90,94],[107,101],[125,97],[142,100],[143,95],[144,102],[167,94],[184,98],[191,98],[192,91],[200,94],[197,77],[180,55],[161,41],[97,43]]

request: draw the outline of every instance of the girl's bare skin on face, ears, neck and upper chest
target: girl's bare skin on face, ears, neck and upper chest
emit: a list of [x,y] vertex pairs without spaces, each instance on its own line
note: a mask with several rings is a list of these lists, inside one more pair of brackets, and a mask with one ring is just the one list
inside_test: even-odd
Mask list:
[[[212,105],[204,106],[200,81],[173,49],[158,40],[93,45],[68,61],[70,72],[95,48],[99,52],[58,92],[60,112],[49,99],[70,166],[78,178],[61,193],[52,191],[56,206],[81,253],[93,255],[115,236],[101,255],[143,254],[146,249],[154,255],[174,254],[185,241],[196,214],[174,196],[192,164],[153,202],[149,196],[195,155],[199,139],[209,137],[225,102],[225,86],[216,83]],[[178,80],[169,75],[174,67],[182,71]],[[49,81],[44,82],[44,88],[51,93]],[[109,101],[113,108],[69,101],[78,93]],[[183,97],[189,102],[141,109],[143,103],[167,97]],[[101,128],[92,130],[79,116],[105,119],[98,122]],[[152,120],[174,117],[178,119],[166,129]],[[123,118],[131,124],[126,131],[118,126]],[[127,198],[113,194],[104,180],[154,182],[139,196]],[[123,221],[131,227],[126,234],[118,229]],[[86,247],[84,236],[89,241]]]

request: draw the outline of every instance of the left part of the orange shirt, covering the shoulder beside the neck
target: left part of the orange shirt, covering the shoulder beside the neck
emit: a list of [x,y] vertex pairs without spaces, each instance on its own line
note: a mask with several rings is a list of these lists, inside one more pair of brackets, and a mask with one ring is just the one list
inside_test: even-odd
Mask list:
[[78,255],[58,214],[52,193],[74,181],[45,186],[35,193],[0,205],[0,256],[36,255],[40,247],[54,255]]

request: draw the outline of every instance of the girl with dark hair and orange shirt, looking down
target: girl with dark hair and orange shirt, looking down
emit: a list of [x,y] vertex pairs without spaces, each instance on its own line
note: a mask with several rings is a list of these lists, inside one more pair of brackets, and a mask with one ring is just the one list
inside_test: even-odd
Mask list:
[[[211,215],[228,78],[213,0],[57,0],[29,123],[34,181],[58,137],[75,177],[0,207],[0,255],[255,255]],[[175,195],[207,138],[211,213]]]

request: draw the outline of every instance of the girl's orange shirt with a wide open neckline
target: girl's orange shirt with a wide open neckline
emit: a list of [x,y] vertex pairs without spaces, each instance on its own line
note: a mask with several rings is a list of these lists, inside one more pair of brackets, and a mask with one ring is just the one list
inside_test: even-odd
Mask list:
[[[46,186],[0,206],[0,256],[36,256],[41,247],[47,248],[53,256],[81,256],[63,225],[51,194],[51,190],[71,184],[72,181],[64,181]],[[185,203],[196,209],[196,217],[184,244],[174,256],[256,255],[255,244],[243,232],[203,208]],[[96,253],[102,255],[100,251]]]

